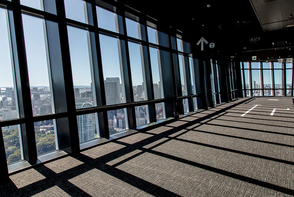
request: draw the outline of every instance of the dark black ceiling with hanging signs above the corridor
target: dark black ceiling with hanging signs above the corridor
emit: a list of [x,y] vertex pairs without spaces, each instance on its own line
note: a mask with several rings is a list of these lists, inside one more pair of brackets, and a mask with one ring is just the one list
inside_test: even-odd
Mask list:
[[[252,56],[257,61],[293,58],[294,27],[286,25],[294,24],[290,16],[294,15],[294,0],[119,2],[184,32],[183,40],[196,46],[193,56],[207,55],[219,61],[251,61]],[[208,41],[203,51],[196,45],[201,37]],[[215,47],[210,49],[212,42]]]

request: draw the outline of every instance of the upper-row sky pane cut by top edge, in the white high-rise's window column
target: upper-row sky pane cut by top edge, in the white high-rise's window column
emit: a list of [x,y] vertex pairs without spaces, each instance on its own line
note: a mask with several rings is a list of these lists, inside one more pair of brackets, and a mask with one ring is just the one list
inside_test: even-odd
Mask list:
[[88,24],[87,3],[83,0],[64,0],[65,15],[68,19]]

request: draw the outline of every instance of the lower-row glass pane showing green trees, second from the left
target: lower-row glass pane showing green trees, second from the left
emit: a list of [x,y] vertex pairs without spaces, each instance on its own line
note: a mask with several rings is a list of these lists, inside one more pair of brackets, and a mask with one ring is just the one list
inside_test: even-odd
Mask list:
[[34,122],[37,155],[52,152],[58,149],[55,120]]

